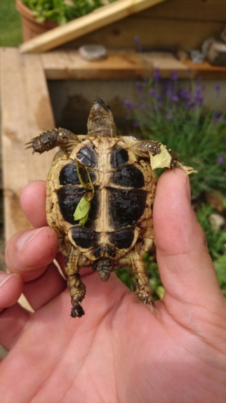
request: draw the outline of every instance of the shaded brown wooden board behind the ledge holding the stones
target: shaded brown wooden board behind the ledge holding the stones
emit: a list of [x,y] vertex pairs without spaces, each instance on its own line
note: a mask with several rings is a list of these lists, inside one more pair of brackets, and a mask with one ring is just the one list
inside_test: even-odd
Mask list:
[[84,43],[100,43],[107,49],[135,49],[135,36],[145,50],[176,50],[199,48],[206,38],[218,36],[223,22],[147,18],[133,15],[114,22],[91,34],[77,38],[70,48]]

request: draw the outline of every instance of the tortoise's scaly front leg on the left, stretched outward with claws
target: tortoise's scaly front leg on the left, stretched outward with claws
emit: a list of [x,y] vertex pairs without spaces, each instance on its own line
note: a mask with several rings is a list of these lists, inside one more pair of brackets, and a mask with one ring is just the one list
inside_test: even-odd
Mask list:
[[42,154],[44,151],[50,151],[59,146],[66,155],[70,155],[80,140],[73,132],[67,129],[52,129],[41,133],[26,143],[27,148],[33,148],[33,153]]

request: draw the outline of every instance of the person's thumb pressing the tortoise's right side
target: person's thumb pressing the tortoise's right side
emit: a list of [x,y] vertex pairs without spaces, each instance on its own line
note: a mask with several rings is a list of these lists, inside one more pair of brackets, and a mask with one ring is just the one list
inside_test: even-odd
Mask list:
[[[158,266],[167,295],[186,304],[218,306],[221,293],[206,238],[190,206],[181,169],[160,176],[153,209]],[[217,309],[216,306],[216,309]]]

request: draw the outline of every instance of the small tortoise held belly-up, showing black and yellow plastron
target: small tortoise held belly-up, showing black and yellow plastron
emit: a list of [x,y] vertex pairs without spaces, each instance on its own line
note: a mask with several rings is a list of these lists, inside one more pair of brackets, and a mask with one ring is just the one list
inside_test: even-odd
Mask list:
[[40,154],[59,146],[47,176],[46,212],[66,257],[70,315],[84,315],[82,267],[92,267],[103,281],[114,269],[131,267],[135,294],[152,309],[142,257],[154,239],[155,169],[180,167],[186,174],[193,169],[156,140],[117,136],[110,106],[102,99],[93,102],[87,128],[86,135],[52,129],[27,143]]

